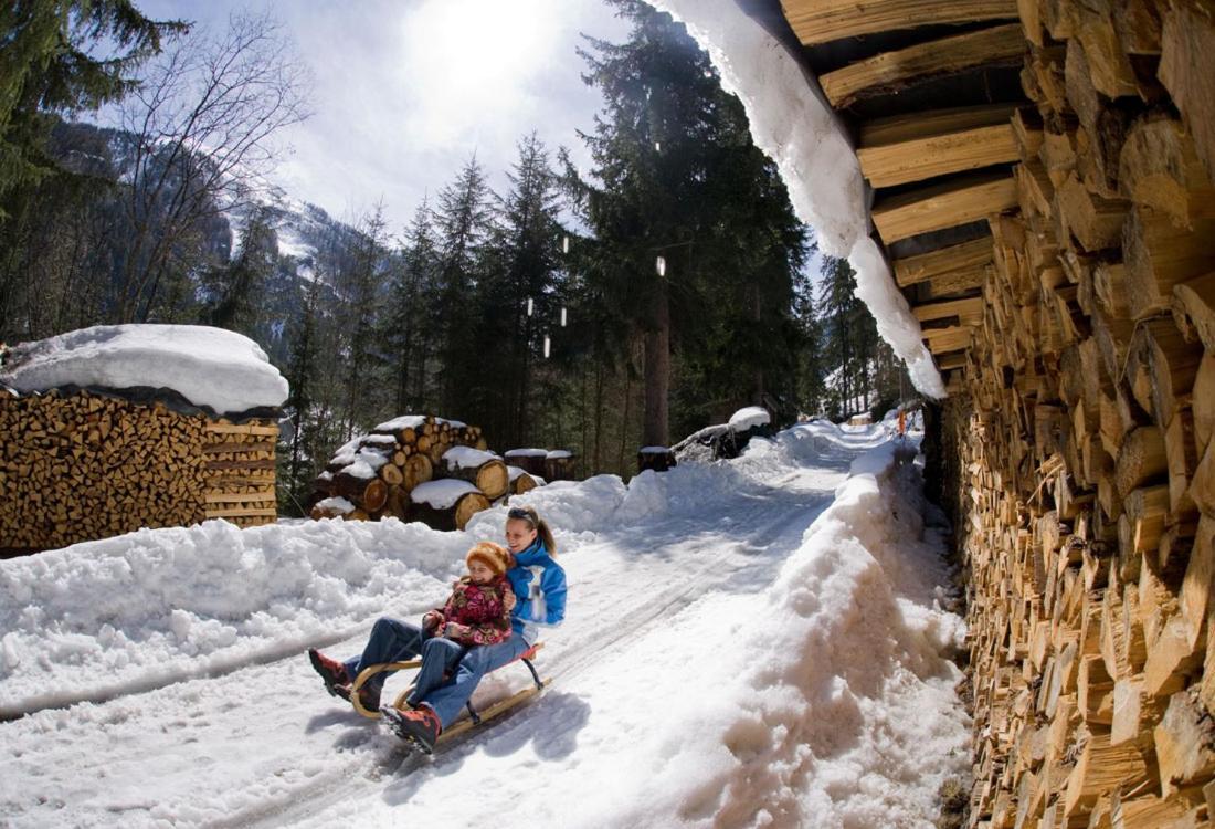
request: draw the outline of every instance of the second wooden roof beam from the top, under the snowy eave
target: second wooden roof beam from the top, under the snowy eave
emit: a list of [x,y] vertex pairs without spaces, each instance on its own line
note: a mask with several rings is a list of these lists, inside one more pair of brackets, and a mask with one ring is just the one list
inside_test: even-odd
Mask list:
[[979,66],[1013,66],[1027,51],[1021,23],[955,34],[893,52],[882,52],[819,78],[831,106],[843,108],[858,98],[895,91],[912,81],[950,75]]

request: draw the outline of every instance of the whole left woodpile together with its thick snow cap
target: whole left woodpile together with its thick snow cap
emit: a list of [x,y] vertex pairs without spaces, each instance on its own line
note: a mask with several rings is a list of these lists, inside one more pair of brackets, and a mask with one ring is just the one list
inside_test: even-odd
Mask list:
[[0,549],[276,518],[287,384],[239,334],[86,328],[9,349],[0,383]]

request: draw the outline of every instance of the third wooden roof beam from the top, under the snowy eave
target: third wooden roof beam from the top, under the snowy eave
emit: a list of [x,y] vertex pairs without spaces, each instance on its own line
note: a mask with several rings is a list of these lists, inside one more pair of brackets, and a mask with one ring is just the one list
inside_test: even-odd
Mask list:
[[874,187],[893,187],[1021,158],[1016,107],[942,109],[882,119],[861,128],[857,158]]

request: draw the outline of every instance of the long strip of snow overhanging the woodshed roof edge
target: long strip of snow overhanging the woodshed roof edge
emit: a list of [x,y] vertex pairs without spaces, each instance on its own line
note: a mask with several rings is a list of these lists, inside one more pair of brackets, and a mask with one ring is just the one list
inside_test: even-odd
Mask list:
[[797,218],[814,227],[824,253],[847,258],[857,271],[857,297],[906,363],[915,388],[938,400],[948,396],[920,322],[869,236],[860,162],[818,79],[736,0],[646,2],[682,21],[708,52],[722,86],[742,102],[756,146],[776,163]]

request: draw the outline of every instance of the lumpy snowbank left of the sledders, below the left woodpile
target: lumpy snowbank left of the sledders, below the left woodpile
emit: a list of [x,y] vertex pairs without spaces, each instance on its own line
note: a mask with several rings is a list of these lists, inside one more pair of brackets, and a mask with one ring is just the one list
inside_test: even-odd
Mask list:
[[443,596],[468,538],[423,524],[210,520],[0,562],[0,716],[334,641]]

